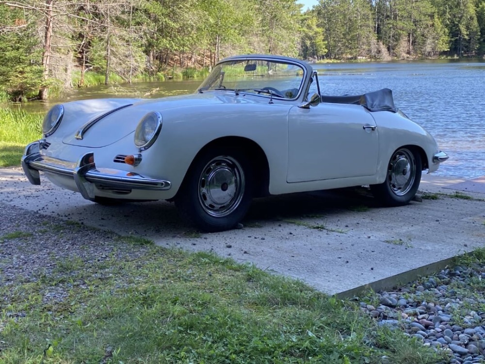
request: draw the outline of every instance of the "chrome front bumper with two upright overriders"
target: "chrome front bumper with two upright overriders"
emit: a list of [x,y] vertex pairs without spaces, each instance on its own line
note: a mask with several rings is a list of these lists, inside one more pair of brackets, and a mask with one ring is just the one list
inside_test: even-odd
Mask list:
[[97,168],[92,162],[93,152],[85,153],[76,163],[42,155],[40,150],[47,146],[46,141],[41,139],[25,148],[22,168],[32,184],[40,184],[39,171],[72,178],[82,197],[90,200],[95,198],[95,186],[149,191],[165,191],[172,186],[169,181],[146,178],[134,172]]

